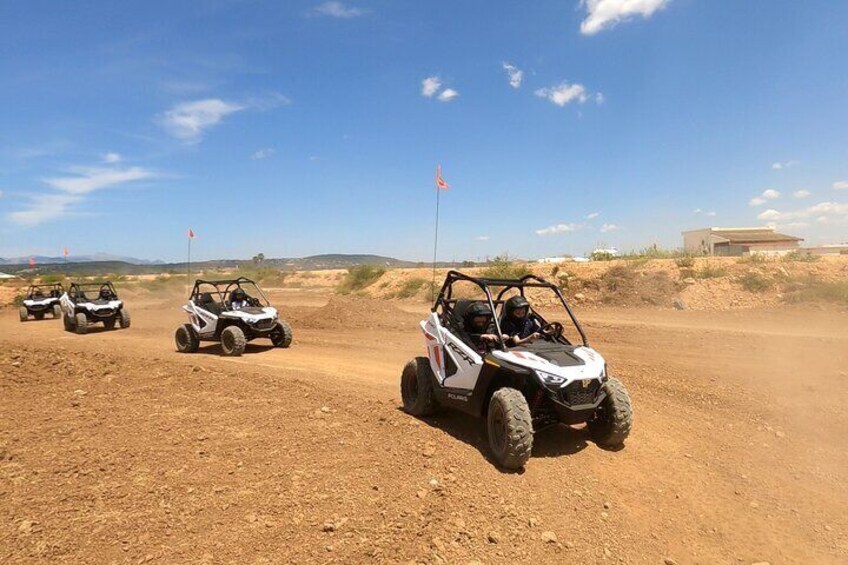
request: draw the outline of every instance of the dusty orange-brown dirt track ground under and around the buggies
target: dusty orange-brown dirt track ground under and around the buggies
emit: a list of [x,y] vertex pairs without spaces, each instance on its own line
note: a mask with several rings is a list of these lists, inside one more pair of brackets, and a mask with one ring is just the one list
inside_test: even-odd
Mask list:
[[426,306],[326,300],[235,360],[174,352],[176,299],[86,336],[0,311],[0,561],[848,562],[848,315],[586,314],[634,433],[507,474],[477,422],[398,410]]

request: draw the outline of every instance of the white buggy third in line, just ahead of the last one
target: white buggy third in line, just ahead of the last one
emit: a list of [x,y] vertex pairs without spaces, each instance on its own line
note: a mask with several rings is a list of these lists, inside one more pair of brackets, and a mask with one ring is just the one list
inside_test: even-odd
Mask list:
[[71,283],[59,302],[65,331],[85,334],[89,325],[100,322],[107,330],[130,327],[130,313],[109,281]]

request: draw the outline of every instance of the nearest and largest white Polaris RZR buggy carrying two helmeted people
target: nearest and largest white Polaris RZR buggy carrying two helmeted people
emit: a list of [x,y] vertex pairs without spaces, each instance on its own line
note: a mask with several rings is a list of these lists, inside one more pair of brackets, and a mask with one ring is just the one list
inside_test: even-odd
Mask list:
[[[458,282],[467,287],[463,295],[470,288],[470,294],[480,298],[454,298]],[[555,295],[573,325],[569,333],[580,343],[569,340],[562,323],[549,323],[531,308],[528,316],[539,339],[509,346],[501,332],[503,306],[511,296],[524,297],[528,288]],[[488,347],[481,346],[481,340],[475,343],[466,327],[466,313],[472,308],[480,311],[481,306],[492,315],[487,334],[494,341]],[[627,390],[608,374],[601,354],[589,347],[554,284],[533,275],[496,280],[451,271],[421,329],[428,357],[413,359],[403,370],[404,410],[428,416],[447,407],[486,418],[494,459],[507,469],[523,467],[533,448],[534,431],[553,424],[585,423],[598,445],[612,449],[623,446],[630,433]]]

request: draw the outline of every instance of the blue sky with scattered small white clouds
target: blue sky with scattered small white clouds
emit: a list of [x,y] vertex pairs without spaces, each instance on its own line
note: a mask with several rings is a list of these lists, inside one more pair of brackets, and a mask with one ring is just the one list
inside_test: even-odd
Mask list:
[[848,240],[848,3],[0,7],[0,257]]

